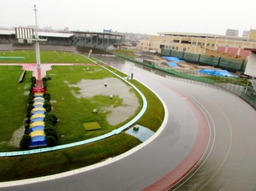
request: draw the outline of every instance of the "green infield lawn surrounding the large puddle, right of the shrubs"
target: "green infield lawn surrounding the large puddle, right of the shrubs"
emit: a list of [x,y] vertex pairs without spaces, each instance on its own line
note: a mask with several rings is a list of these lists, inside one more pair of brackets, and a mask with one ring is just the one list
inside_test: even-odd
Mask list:
[[[53,113],[60,119],[56,125],[57,134],[64,135],[60,137],[58,144],[77,142],[106,134],[120,127],[122,124],[125,124],[133,118],[142,107],[141,105],[137,113],[125,122],[111,126],[106,120],[108,113],[99,112],[98,114],[93,114],[92,111],[95,108],[101,109],[102,107],[121,106],[122,99],[117,96],[114,96],[113,99],[109,99],[108,96],[77,98],[71,91],[78,91],[80,89],[68,86],[67,82],[69,84],[77,84],[77,82],[82,79],[96,80],[106,77],[115,77],[112,73],[99,66],[54,66],[52,70],[47,72],[47,75],[52,77],[52,80],[47,82],[47,92],[51,94],[53,101],[52,107],[54,109]],[[137,96],[139,98],[139,95]],[[102,130],[85,131],[82,123],[87,122],[98,122]]]

